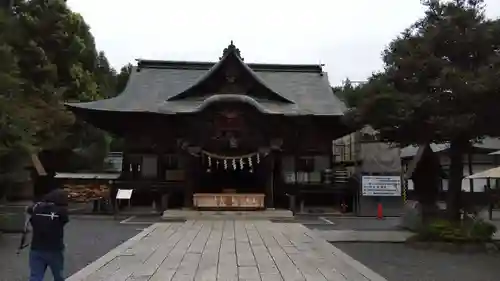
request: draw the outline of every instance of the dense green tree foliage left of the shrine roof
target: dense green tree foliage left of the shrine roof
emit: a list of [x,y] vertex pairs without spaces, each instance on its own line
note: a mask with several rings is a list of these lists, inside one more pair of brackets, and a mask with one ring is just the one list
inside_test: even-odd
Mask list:
[[51,163],[57,169],[102,165],[109,136],[75,122],[64,102],[115,96],[130,67],[116,74],[65,1],[12,4],[0,9],[0,187],[23,171],[31,153],[62,153],[57,160],[72,155],[74,166]]

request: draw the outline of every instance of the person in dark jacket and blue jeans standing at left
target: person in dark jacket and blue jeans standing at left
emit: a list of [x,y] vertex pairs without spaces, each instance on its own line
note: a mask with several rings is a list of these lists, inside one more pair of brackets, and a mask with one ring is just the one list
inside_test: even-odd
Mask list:
[[47,267],[54,281],[63,281],[64,226],[68,222],[68,194],[56,189],[28,208],[33,228],[30,250],[30,281],[43,281]]

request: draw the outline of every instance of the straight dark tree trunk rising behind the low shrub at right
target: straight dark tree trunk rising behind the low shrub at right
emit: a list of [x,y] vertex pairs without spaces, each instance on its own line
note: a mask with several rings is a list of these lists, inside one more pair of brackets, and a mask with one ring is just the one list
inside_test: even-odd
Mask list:
[[446,200],[446,211],[448,218],[452,221],[460,220],[462,179],[463,179],[463,155],[469,146],[468,141],[462,139],[453,140],[450,143],[450,177]]

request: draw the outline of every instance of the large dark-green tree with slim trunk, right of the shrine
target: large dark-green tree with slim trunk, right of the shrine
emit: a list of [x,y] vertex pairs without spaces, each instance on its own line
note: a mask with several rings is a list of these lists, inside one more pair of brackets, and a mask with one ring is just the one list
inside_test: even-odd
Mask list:
[[384,70],[358,89],[355,123],[401,145],[450,144],[450,218],[460,210],[463,154],[499,136],[500,21],[482,0],[424,1],[425,16],[383,52]]

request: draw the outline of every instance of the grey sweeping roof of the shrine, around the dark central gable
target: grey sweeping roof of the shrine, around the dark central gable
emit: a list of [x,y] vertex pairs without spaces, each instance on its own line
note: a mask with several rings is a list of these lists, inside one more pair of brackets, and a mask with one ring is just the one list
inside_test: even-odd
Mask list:
[[134,67],[125,90],[117,97],[68,106],[103,111],[174,114],[196,112],[216,100],[240,99],[256,105],[257,109],[267,114],[339,116],[346,110],[345,105],[333,94],[328,76],[319,65],[247,64],[262,83],[291,102],[241,95],[215,95],[205,99],[187,97],[168,101],[199,82],[214,64],[140,60],[139,69]]

